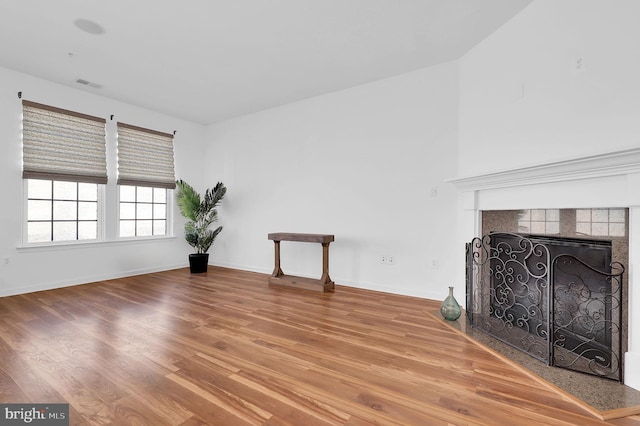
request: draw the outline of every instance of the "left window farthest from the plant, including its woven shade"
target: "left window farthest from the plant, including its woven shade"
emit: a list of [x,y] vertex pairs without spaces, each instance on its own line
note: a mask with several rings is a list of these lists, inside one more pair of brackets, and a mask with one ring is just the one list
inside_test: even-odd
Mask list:
[[27,100],[22,113],[26,242],[99,239],[105,120]]

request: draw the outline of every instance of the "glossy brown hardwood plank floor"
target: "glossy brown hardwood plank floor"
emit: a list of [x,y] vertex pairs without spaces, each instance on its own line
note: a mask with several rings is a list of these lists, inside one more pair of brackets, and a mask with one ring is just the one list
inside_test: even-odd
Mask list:
[[0,402],[72,425],[640,425],[603,422],[425,311],[210,267],[0,298]]

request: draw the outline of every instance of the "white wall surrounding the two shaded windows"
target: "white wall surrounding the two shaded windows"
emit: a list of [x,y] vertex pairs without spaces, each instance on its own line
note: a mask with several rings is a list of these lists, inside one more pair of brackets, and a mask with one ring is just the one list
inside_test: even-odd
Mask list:
[[[203,141],[204,128],[155,112],[116,102],[91,93],[50,83],[0,68],[0,296],[99,281],[187,265],[190,247],[182,238],[176,212],[176,238],[143,242],[109,242],[56,248],[22,248],[23,185],[21,169],[21,111],[23,99],[82,112],[107,120],[108,138],[120,120],[175,137],[176,175],[201,187],[203,161],[194,155]],[[110,121],[110,115],[114,120]],[[113,140],[111,140],[113,142]],[[115,145],[108,151],[110,184],[107,186],[107,236],[116,235]]]

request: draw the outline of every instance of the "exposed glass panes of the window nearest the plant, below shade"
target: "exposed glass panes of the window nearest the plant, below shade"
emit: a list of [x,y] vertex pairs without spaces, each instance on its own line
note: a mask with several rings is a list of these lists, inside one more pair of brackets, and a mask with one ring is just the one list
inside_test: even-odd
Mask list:
[[167,189],[120,185],[120,237],[167,234]]

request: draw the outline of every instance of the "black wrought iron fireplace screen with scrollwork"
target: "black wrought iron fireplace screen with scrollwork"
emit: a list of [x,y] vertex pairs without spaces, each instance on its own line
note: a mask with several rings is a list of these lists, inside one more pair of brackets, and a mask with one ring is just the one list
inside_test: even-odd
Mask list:
[[548,365],[622,381],[611,242],[490,233],[467,244],[470,324]]

